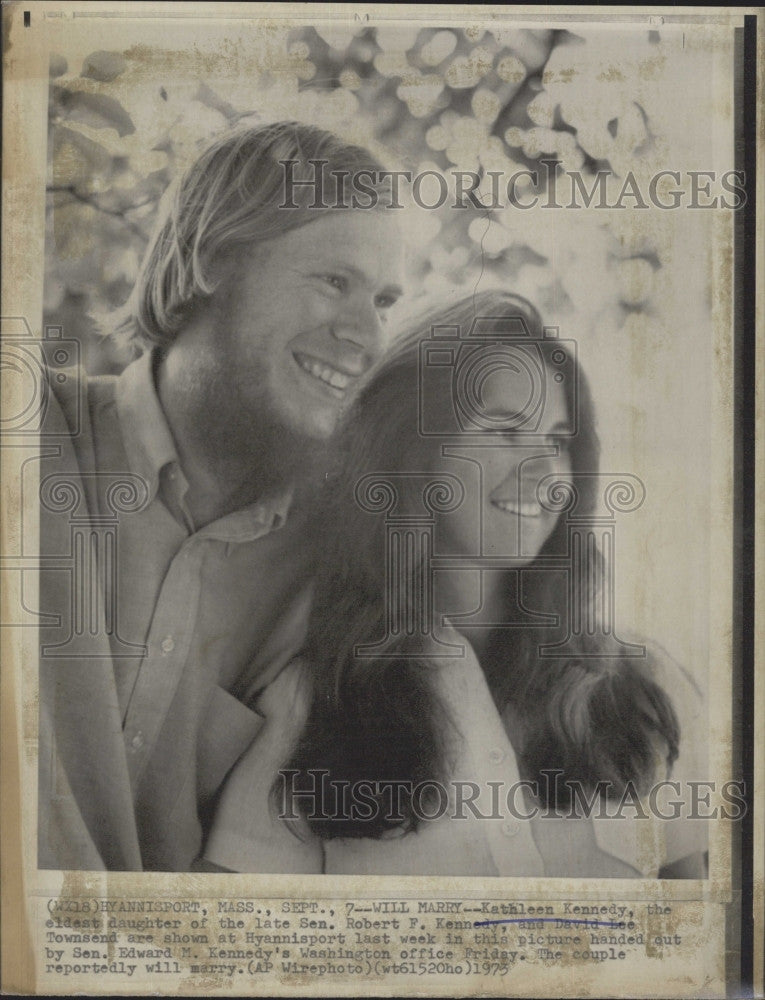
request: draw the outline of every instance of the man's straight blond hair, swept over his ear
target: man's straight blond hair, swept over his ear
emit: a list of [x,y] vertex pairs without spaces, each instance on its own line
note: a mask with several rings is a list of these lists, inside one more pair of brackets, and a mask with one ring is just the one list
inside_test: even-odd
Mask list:
[[[297,182],[288,198],[284,161],[292,161],[289,175]],[[316,161],[328,192],[323,211],[315,205],[315,189],[299,183],[309,174],[315,177]],[[224,254],[335,210],[332,179],[343,189],[358,171],[372,174],[371,187],[383,184],[383,168],[370,152],[313,125],[275,122],[228,132],[177,183],[111,332],[133,348],[167,347],[193,302],[215,291],[214,265]]]

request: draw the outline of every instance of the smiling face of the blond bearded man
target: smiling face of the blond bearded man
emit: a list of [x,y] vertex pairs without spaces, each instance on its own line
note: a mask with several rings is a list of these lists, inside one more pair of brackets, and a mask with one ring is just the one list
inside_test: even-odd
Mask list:
[[327,212],[231,255],[210,305],[219,386],[241,417],[326,439],[389,343],[401,295],[398,225],[382,211]]

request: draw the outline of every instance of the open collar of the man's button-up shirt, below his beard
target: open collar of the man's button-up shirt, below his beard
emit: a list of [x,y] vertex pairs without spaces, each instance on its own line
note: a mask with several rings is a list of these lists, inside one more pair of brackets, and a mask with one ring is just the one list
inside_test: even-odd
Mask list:
[[[188,482],[154,381],[158,357],[156,349],[147,351],[119,376],[115,389],[117,415],[130,471],[144,478],[150,500],[154,500],[160,490],[171,490],[175,505],[185,515],[189,528],[191,519],[184,503]],[[168,474],[162,475],[163,470]],[[197,535],[228,542],[250,541],[280,528],[287,519],[291,503],[292,490],[284,490],[213,521]]]

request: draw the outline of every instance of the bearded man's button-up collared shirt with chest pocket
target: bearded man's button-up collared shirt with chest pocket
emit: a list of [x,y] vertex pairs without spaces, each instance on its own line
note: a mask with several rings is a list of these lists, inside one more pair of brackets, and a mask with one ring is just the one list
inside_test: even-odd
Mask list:
[[302,618],[285,613],[304,600],[305,536],[287,520],[289,495],[194,530],[152,355],[91,380],[89,407],[97,473],[142,484],[140,509],[119,515],[108,611],[142,862],[188,870],[226,773],[262,724],[237,696],[265,686],[300,645],[279,623]]

